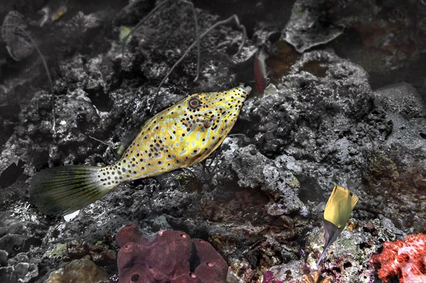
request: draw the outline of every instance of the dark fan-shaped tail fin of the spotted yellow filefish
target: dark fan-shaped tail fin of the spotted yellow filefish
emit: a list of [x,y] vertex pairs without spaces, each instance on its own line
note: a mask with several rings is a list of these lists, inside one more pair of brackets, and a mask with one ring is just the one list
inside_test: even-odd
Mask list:
[[105,167],[84,165],[41,170],[31,179],[31,200],[45,214],[62,216],[82,209],[118,184],[107,180],[102,171],[107,172]]

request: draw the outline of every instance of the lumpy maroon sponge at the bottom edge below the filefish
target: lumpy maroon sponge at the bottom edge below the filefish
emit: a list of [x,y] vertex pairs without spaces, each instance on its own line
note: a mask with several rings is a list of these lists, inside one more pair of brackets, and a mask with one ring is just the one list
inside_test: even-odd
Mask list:
[[228,265],[212,245],[180,231],[160,231],[144,238],[135,225],[116,235],[121,247],[117,258],[122,282],[221,283]]

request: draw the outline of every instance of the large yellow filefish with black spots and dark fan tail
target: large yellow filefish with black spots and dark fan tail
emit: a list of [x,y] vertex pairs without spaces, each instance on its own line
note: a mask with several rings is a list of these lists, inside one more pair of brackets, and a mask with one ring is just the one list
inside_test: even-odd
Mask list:
[[31,199],[47,214],[92,204],[118,184],[201,162],[234,126],[250,87],[187,96],[148,119],[120,160],[105,167],[71,165],[35,173]]

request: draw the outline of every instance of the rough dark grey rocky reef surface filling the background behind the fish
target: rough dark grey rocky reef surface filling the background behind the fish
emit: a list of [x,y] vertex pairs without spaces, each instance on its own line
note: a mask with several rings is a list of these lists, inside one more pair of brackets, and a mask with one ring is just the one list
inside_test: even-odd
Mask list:
[[[13,9],[21,14],[47,59],[55,128],[40,59],[27,48],[15,50],[27,56],[16,62],[2,41],[0,282],[118,282],[116,233],[130,223],[144,237],[176,230],[210,243],[229,266],[227,282],[304,282],[315,271],[332,282],[381,282],[373,254],[386,241],[426,232],[426,91],[419,83],[426,70],[406,76],[410,66],[426,62],[426,37],[410,45],[404,33],[424,35],[425,4],[399,9],[393,1],[364,1],[371,6],[365,13],[354,1],[313,7],[296,1],[279,9],[274,1],[244,9],[222,2],[248,30],[242,52],[234,56],[238,26],[215,28],[201,41],[199,81],[193,82],[192,50],[155,99],[160,80],[195,39],[187,4],[159,10],[133,33],[124,55],[123,34],[155,1],[102,7],[76,1],[55,21],[29,13],[20,1],[1,11],[1,21]],[[206,3],[195,1],[200,30],[230,16]],[[53,4],[31,11],[43,7],[58,11]],[[418,21],[410,18],[413,10]],[[388,13],[397,16],[386,20]],[[256,16],[260,23],[251,21]],[[374,32],[381,42],[373,41]],[[361,47],[350,53],[354,34]],[[114,162],[138,126],[182,99],[182,90],[250,84],[260,43],[270,45],[272,83],[264,96],[253,91],[231,135],[191,172],[121,184],[71,220],[45,216],[31,204],[28,184],[36,170]],[[380,64],[371,74],[366,62],[373,59]],[[322,211],[335,184],[360,201],[318,267]]]

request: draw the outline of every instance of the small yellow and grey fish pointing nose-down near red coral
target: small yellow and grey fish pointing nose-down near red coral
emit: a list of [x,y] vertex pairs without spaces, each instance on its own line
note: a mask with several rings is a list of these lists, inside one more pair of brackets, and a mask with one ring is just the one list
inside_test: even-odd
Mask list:
[[332,243],[337,239],[337,236],[342,233],[346,223],[349,221],[352,210],[354,210],[358,203],[358,196],[352,194],[349,189],[344,187],[334,186],[333,192],[327,201],[324,210],[324,236],[325,245],[324,250],[317,261],[320,265],[322,257],[327,252]]

